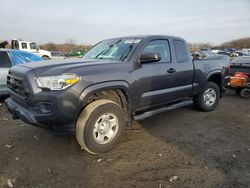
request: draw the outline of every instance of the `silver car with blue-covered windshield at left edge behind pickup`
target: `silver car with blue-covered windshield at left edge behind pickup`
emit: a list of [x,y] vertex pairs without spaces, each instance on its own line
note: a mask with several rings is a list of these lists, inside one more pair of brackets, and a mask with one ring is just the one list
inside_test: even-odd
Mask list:
[[42,61],[35,54],[11,49],[0,49],[0,96],[8,94],[7,75],[9,68],[21,63]]

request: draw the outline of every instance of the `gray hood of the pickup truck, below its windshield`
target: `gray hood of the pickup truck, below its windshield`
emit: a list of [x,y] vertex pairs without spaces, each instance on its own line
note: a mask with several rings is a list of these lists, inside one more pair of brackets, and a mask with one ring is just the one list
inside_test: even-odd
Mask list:
[[38,75],[46,76],[46,75],[58,75],[66,72],[67,73],[76,72],[76,70],[85,69],[86,67],[93,67],[93,66],[96,67],[97,65],[105,66],[105,64],[111,64],[111,63],[118,64],[121,62],[110,61],[110,60],[97,60],[97,59],[87,60],[79,58],[79,59],[30,62],[30,63],[20,64],[18,66],[32,69],[37,76]]

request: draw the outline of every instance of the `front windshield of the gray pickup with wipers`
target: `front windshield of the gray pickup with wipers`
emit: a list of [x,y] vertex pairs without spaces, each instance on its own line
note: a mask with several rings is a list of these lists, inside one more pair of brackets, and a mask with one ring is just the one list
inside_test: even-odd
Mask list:
[[105,40],[91,48],[83,58],[124,61],[140,41],[141,39]]

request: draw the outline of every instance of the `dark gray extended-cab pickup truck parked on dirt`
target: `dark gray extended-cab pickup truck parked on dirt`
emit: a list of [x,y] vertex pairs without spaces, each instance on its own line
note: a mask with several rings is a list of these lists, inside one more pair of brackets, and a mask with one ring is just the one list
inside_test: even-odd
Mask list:
[[14,119],[74,132],[83,149],[102,153],[114,147],[132,120],[190,103],[214,110],[228,63],[223,56],[193,61],[178,37],[109,39],[81,59],[11,68],[6,104]]

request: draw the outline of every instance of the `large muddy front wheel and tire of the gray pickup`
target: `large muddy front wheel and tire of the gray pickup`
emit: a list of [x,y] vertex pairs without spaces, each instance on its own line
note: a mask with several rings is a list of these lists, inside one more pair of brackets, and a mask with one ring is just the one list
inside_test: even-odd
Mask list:
[[108,152],[120,141],[125,113],[117,103],[101,99],[84,108],[76,123],[76,139],[91,154]]

